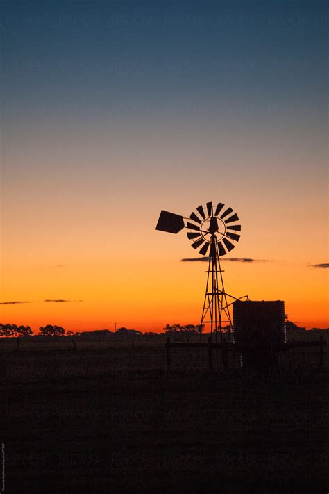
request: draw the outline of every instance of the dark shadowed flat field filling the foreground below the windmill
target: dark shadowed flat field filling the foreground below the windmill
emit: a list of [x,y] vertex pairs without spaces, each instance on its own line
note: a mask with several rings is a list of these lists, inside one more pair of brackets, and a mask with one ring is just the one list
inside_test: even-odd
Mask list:
[[0,358],[8,493],[329,491],[326,368],[167,373],[162,343]]

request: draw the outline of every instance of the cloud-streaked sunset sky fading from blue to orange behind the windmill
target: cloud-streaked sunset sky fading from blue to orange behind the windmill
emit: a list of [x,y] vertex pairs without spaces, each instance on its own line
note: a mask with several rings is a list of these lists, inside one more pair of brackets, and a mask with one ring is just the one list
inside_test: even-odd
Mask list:
[[329,327],[326,2],[0,9],[2,323],[199,324],[205,263],[155,225],[221,201],[228,293]]

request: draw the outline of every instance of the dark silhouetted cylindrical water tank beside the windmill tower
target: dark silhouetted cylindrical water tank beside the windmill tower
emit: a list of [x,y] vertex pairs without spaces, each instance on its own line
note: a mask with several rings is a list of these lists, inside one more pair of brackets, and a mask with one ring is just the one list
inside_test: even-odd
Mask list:
[[244,365],[277,365],[277,347],[287,342],[285,302],[237,300],[233,303],[233,328],[235,343],[243,349]]

